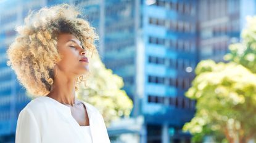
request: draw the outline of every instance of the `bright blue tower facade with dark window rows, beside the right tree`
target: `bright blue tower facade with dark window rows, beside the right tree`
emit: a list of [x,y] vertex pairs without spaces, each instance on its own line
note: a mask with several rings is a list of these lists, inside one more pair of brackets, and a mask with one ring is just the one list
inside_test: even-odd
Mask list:
[[[141,18],[140,93],[147,142],[189,141],[181,133],[194,113],[184,96],[197,64],[196,1],[144,1]],[[140,84],[138,84],[140,85]]]

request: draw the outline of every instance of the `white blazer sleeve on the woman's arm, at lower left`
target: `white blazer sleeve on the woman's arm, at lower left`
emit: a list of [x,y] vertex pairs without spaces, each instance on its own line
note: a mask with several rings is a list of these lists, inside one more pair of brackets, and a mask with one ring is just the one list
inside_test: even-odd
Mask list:
[[41,143],[41,134],[30,109],[23,109],[17,120],[15,143]]

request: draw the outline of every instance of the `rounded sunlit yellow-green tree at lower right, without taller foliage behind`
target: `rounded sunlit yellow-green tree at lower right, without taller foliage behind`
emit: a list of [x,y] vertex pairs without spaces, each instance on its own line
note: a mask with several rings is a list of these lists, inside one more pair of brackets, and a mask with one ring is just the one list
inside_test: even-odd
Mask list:
[[[229,142],[247,142],[256,134],[256,76],[236,63],[201,61],[186,96],[197,100],[196,115],[184,130],[225,134]],[[202,135],[202,134],[201,134]]]

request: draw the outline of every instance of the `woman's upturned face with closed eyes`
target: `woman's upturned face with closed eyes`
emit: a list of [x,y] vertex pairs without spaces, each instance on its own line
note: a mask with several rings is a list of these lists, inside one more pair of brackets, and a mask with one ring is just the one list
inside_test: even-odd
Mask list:
[[85,74],[88,71],[88,58],[83,50],[81,42],[73,35],[61,33],[57,37],[57,48],[62,60],[57,65],[58,68],[75,76]]

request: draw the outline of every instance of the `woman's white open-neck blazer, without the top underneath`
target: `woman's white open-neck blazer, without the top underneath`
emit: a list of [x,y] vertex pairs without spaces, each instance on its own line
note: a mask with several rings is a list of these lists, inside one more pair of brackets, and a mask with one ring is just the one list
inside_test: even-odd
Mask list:
[[[83,102],[89,116],[93,143],[109,143],[109,135],[102,115]],[[17,120],[15,143],[86,143],[81,126],[71,109],[47,96],[31,100],[22,109]]]

